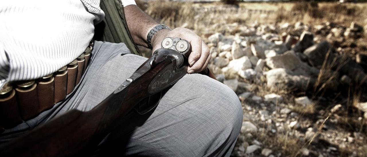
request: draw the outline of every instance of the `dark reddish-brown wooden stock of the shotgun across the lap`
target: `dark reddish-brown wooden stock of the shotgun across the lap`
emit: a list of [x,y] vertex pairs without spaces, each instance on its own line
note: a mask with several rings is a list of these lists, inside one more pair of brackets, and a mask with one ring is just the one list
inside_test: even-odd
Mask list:
[[155,94],[148,87],[170,64],[171,59],[164,59],[88,112],[70,110],[5,143],[0,146],[0,156],[75,156],[97,146],[138,102]]

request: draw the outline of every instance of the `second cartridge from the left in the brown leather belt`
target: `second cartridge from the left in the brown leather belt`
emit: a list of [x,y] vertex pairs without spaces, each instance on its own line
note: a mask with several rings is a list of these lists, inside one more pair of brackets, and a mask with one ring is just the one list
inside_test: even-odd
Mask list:
[[29,120],[40,113],[37,84],[34,80],[19,81],[15,89],[18,98],[19,109],[23,120]]

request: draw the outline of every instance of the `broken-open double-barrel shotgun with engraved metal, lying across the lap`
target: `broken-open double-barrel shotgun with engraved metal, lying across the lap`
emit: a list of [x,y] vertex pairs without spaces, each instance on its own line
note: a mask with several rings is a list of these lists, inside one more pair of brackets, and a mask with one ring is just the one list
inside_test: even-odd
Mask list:
[[167,37],[152,57],[93,109],[73,109],[41,124],[1,145],[0,156],[76,156],[97,146],[132,109],[143,114],[155,107],[139,102],[182,78],[190,52],[188,41]]

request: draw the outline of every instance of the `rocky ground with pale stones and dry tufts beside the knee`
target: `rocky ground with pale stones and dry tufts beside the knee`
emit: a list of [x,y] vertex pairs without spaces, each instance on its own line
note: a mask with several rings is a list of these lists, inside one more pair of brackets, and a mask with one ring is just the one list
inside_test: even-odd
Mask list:
[[231,27],[206,43],[208,67],[243,105],[232,156],[367,156],[367,56],[356,45],[367,27]]

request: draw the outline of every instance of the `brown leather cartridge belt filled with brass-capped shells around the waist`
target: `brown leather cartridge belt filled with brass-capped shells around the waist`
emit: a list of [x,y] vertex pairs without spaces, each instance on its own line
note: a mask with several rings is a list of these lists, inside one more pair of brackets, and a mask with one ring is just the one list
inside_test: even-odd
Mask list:
[[0,133],[63,101],[84,74],[93,42],[74,61],[36,80],[6,83],[0,89]]

